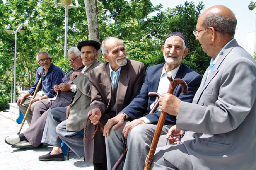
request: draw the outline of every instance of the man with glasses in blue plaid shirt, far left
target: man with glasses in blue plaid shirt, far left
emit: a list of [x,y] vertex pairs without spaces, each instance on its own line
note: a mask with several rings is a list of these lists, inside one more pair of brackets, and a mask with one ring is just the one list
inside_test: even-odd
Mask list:
[[[28,112],[28,116],[26,119],[29,126],[31,124],[32,113],[36,104],[38,104],[41,101],[48,100],[48,98],[53,98],[54,96],[52,95],[52,92],[54,90],[53,89],[54,85],[60,84],[62,82],[62,78],[65,76],[64,72],[60,69],[60,67],[57,67],[54,64],[52,64],[52,58],[49,53],[45,51],[40,52],[36,55],[36,59],[41,67],[39,67],[36,71],[35,84],[31,86],[31,88],[28,90],[28,92],[25,95],[21,96],[17,100],[17,106],[19,106],[20,111],[23,115],[26,114],[29,103],[33,103],[31,104],[31,108]],[[37,83],[40,79],[40,76],[38,75],[38,73],[40,73],[42,76],[42,82],[39,86],[38,91],[43,89],[45,95],[41,97],[35,97],[33,100],[31,100],[31,98],[26,98],[26,97],[34,94]]]

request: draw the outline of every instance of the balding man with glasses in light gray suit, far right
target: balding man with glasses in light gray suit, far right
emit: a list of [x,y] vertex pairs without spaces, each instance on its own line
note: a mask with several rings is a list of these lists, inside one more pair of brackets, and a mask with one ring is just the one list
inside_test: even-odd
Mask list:
[[256,169],[256,63],[234,39],[236,17],[227,7],[205,10],[196,30],[211,65],[193,103],[163,95],[160,108],[177,116],[168,136],[186,132],[181,142],[169,140],[180,145],[158,148],[151,167]]

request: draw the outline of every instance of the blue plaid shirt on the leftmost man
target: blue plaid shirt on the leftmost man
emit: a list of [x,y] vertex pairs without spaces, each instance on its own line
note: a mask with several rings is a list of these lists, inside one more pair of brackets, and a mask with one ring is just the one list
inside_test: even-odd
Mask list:
[[31,95],[34,94],[34,91],[36,90],[36,85],[40,79],[38,73],[42,75],[42,83],[40,84],[38,91],[43,89],[46,96],[53,98],[53,87],[55,84],[62,83],[62,78],[65,76],[64,72],[60,69],[60,67],[57,67],[52,63],[46,74],[44,74],[44,68],[39,67],[36,71],[35,84],[31,86],[31,88],[28,90],[28,93],[30,93]]

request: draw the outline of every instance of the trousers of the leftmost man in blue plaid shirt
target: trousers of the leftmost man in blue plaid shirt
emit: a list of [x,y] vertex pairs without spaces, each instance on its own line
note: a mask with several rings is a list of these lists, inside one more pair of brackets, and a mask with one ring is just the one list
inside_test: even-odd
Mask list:
[[[22,104],[19,104],[20,111],[21,111],[21,113],[22,113],[24,116],[25,116],[25,114],[26,114],[26,112],[27,112],[27,110],[28,110],[28,105],[29,105],[31,99],[32,99],[32,98],[29,97],[29,98],[25,99]],[[26,120],[27,120],[29,126],[30,126],[31,121],[32,121],[32,115],[33,115],[33,111],[34,111],[34,109],[35,109],[36,104],[38,104],[38,103],[40,103],[40,102],[43,102],[43,101],[46,101],[46,100],[49,100],[49,99],[39,100],[39,101],[36,101],[36,102],[34,102],[34,103],[31,104],[30,110],[29,110],[29,112],[28,112],[28,116],[27,116],[27,118],[26,118]]]

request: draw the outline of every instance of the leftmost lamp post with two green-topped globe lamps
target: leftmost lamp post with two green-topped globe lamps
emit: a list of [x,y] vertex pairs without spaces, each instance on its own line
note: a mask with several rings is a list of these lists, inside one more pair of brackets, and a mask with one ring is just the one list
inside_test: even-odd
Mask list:
[[25,33],[25,29],[22,26],[22,23],[20,26],[17,28],[16,31],[10,27],[10,25],[5,29],[5,32],[8,34],[14,33],[15,34],[15,45],[14,45],[14,80],[13,80],[13,103],[16,103],[16,55],[17,55],[17,32],[20,32],[21,34]]

